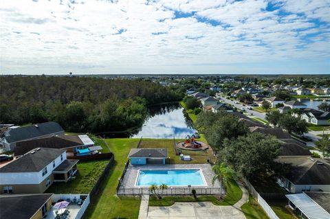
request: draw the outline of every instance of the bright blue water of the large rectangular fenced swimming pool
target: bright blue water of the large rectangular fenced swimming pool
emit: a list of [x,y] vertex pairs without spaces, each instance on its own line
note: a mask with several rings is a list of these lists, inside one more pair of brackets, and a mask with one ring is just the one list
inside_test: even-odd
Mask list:
[[136,185],[203,186],[201,170],[140,170]]

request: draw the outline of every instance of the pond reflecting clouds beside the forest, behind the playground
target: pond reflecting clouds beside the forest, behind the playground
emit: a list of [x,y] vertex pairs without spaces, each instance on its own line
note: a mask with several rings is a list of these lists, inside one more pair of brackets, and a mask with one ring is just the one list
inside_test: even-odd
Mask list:
[[184,108],[177,104],[153,106],[142,128],[131,135],[133,138],[171,139],[185,138],[195,134],[191,120],[184,114]]

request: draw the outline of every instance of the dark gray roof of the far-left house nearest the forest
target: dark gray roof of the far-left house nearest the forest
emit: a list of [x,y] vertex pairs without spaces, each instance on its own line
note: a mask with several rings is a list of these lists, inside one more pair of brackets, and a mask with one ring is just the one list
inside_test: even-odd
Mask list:
[[58,132],[64,132],[63,128],[56,122],[45,122],[34,126],[14,128],[5,132],[5,140],[8,143],[42,137]]

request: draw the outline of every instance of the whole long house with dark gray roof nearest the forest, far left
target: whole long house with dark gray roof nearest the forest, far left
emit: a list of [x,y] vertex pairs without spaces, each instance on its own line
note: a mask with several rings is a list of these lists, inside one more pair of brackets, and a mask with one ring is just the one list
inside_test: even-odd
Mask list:
[[5,150],[14,150],[17,142],[50,137],[52,135],[64,135],[63,128],[56,122],[44,122],[32,126],[13,128],[3,133],[0,146]]

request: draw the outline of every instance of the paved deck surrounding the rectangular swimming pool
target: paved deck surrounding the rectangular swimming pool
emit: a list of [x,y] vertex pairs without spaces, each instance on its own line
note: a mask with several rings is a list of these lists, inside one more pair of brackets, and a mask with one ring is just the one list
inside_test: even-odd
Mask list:
[[[122,181],[122,188],[138,188],[135,186],[137,174],[139,170],[145,169],[153,169],[153,170],[175,170],[175,169],[200,169],[203,173],[206,185],[201,187],[220,187],[219,181],[215,181],[214,185],[212,185],[212,178],[214,176],[214,172],[212,171],[212,167],[208,163],[201,164],[166,164],[166,165],[129,165],[126,173],[124,175],[124,179]],[[175,187],[175,186],[171,186]]]

